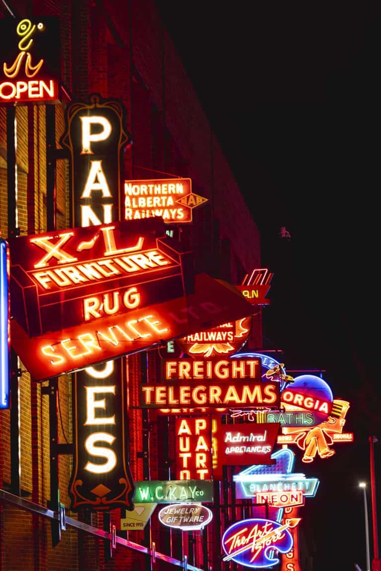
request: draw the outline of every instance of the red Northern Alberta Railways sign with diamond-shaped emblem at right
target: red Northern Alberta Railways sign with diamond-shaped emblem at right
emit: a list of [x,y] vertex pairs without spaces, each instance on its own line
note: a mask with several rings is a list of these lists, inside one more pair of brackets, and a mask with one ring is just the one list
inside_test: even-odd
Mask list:
[[192,222],[193,208],[207,198],[192,192],[189,178],[125,180],[125,218],[161,216],[166,224]]

